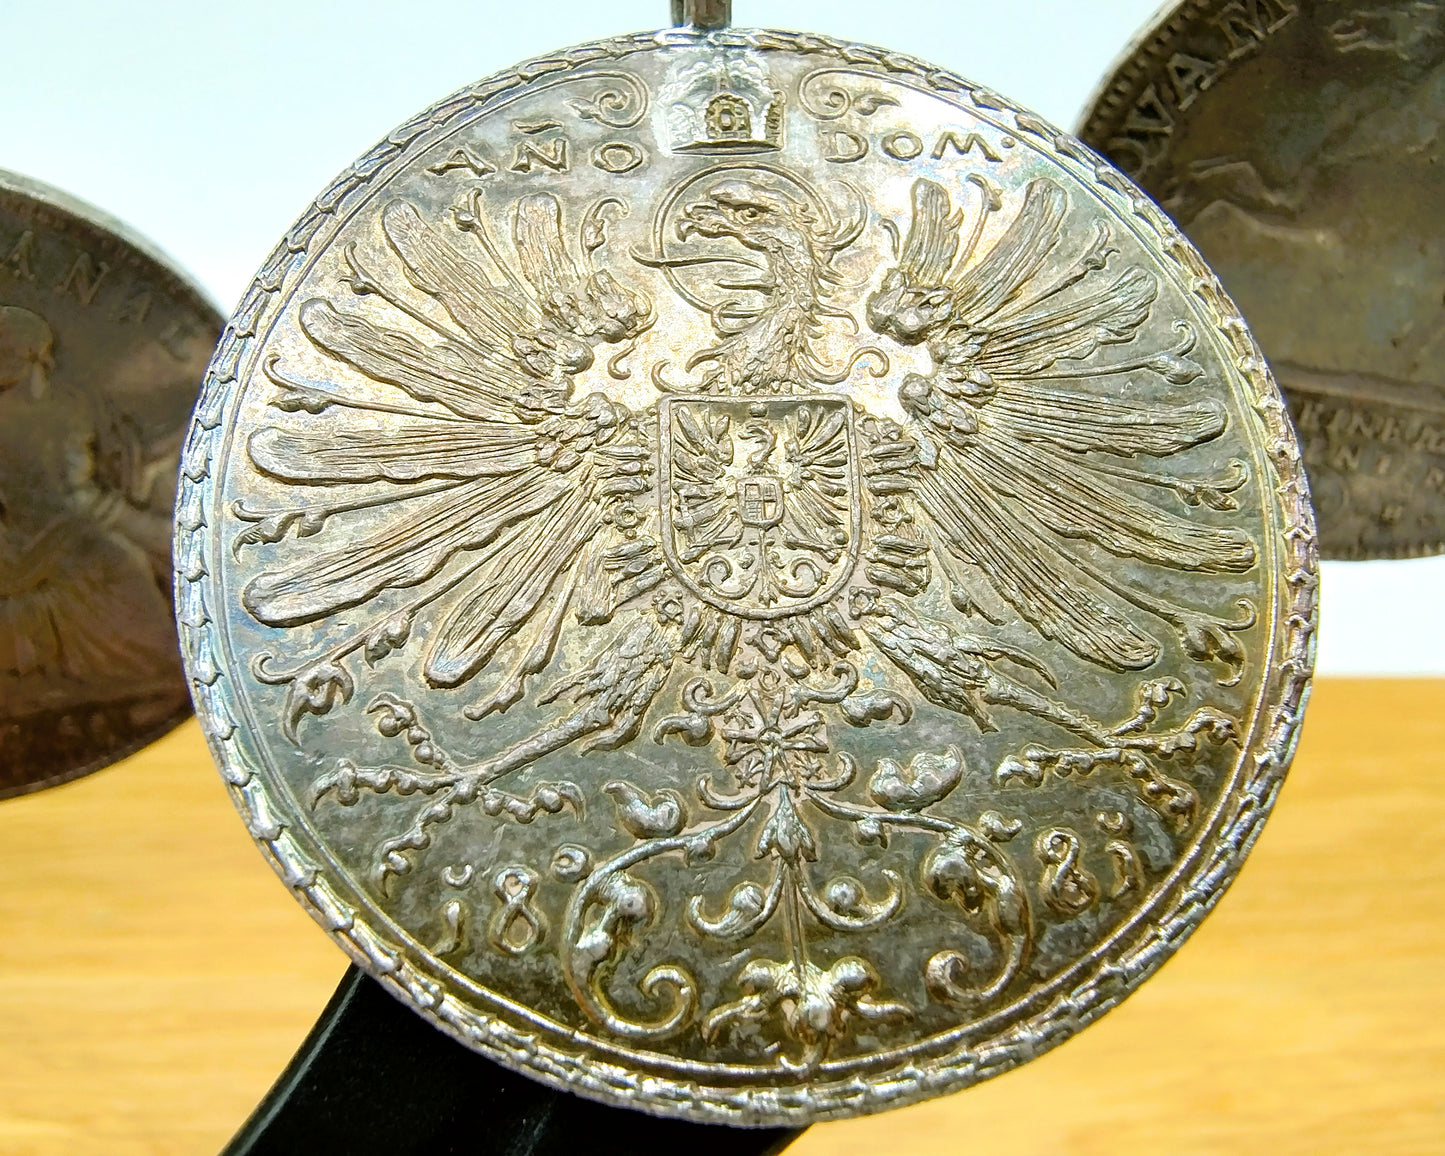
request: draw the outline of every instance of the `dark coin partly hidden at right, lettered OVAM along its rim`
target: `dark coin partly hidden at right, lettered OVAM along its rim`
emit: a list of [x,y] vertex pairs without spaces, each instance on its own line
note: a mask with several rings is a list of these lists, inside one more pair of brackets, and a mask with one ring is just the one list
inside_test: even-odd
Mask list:
[[1289,397],[1325,556],[1445,549],[1445,4],[1186,0],[1079,136],[1238,301]]

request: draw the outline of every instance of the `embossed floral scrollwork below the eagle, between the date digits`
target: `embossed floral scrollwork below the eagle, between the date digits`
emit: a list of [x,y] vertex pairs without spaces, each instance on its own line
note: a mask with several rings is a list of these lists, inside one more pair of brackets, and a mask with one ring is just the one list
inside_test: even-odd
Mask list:
[[[681,964],[659,964],[643,977],[642,994],[665,1009],[649,1020],[623,1014],[607,993],[618,958],[660,918],[657,890],[636,870],[663,857],[685,864],[711,860],[721,844],[751,832],[753,860],[769,864],[766,881],[736,883],[721,910],[708,910],[702,896],[685,909],[691,929],[720,942],[746,944],[773,919],[782,920],[788,955],[751,959],[736,977],[741,998],[722,1003],[701,1016],[704,1039],[721,1040],[749,1023],[777,1020],[798,1053],[779,1064],[809,1069],[857,1025],[907,1019],[913,1009],[880,994],[874,965],[860,955],[831,964],[809,952],[809,926],[834,932],[861,932],[892,919],[909,892],[957,905],[965,919],[977,920],[997,941],[1000,964],[991,977],[970,974],[961,952],[936,952],[926,964],[929,993],[946,1003],[974,1004],[997,996],[1017,975],[1030,936],[1029,905],[1000,842],[1019,824],[991,816],[990,829],[928,814],[964,779],[958,747],[941,754],[916,754],[907,766],[879,760],[866,789],[873,805],[842,798],[858,767],[845,753],[834,753],[828,740],[825,708],[841,708],[858,691],[851,663],[832,668],[831,685],[811,678],[790,679],[764,669],[718,694],[707,679],[694,679],[683,691],[683,715],[663,720],[657,741],[669,736],[694,746],[721,744],[728,790],[720,792],[714,776],[702,773],[696,796],[704,808],[724,818],[704,822],[686,834],[676,795],[647,799],[637,788],[608,786],[618,803],[621,824],[637,838],[633,847],[597,866],[575,890],[564,926],[564,970],[578,1003],[608,1030],[631,1039],[656,1039],[686,1027],[698,1009],[698,985]],[[842,718],[848,714],[838,711]],[[909,715],[905,702],[884,717]],[[854,717],[863,717],[854,707]],[[643,821],[653,815],[656,827]],[[932,841],[918,884],[897,871],[881,871],[881,894],[870,893],[858,879],[838,874],[827,883],[812,864],[835,845],[835,831],[819,825],[845,824],[860,842],[887,845],[890,835],[918,834]]]

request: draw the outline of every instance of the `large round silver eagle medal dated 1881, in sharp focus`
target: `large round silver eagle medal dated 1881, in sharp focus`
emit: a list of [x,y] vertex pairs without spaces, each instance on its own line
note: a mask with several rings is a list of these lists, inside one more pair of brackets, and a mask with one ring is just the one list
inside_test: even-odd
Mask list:
[[1282,400],[1194,249],[877,49],[672,30],[392,133],[184,462],[199,717],[464,1043],[653,1113],[959,1088],[1149,975],[1312,660]]

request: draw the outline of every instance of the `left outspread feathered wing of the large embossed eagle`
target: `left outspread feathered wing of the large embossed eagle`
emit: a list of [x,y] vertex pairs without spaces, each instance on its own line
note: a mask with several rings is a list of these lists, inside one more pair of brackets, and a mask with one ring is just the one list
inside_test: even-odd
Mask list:
[[[649,448],[624,407],[575,396],[574,379],[597,344],[650,324],[650,303],[607,273],[578,272],[549,194],[519,201],[513,223],[520,275],[477,207],[447,228],[394,201],[381,230],[403,276],[373,275],[353,250],[355,301],[301,306],[305,335],[358,380],[322,387],[269,366],[282,387],[273,405],[312,416],[262,426],[250,457],[280,483],[316,487],[318,501],[293,519],[298,535],[322,533],[341,514],[366,520],[256,577],[243,603],[262,623],[318,621],[445,571],[441,588],[458,594],[428,631],[425,675],[454,686],[549,595],[545,637],[522,673],[549,662],[569,600],[584,600],[594,618],[610,607],[610,591],[578,591],[577,574],[605,584],[607,566],[584,553],[604,548],[608,503],[646,488]],[[318,419],[327,410],[340,416]],[[276,519],[269,535],[246,540],[277,540],[292,523]]]

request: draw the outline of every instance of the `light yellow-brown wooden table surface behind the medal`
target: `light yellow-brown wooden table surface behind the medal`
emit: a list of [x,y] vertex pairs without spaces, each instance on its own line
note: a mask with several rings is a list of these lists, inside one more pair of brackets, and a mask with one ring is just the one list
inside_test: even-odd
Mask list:
[[[0,803],[0,1153],[215,1153],[344,965],[194,722]],[[1097,1026],[790,1152],[1445,1153],[1445,681],[1321,681],[1240,881]]]

